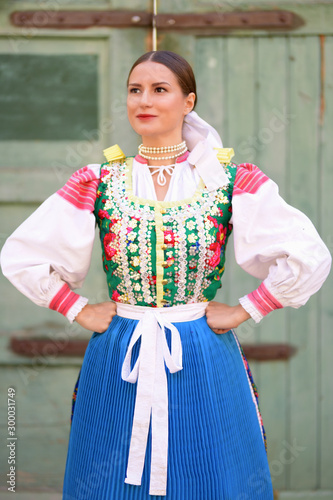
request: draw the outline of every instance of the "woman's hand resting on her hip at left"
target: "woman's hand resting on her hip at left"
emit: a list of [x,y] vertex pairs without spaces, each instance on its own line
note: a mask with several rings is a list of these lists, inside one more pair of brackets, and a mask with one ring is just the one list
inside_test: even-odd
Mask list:
[[114,302],[87,304],[76,315],[75,321],[87,330],[102,333],[107,330],[112,318],[116,315],[117,306]]

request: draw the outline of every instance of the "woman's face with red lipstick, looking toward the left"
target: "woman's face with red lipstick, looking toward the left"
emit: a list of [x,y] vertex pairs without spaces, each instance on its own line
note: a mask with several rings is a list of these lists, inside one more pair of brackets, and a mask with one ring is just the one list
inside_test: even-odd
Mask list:
[[147,143],[181,141],[184,116],[192,110],[194,100],[193,92],[184,96],[176,75],[163,64],[146,61],[130,74],[128,119]]

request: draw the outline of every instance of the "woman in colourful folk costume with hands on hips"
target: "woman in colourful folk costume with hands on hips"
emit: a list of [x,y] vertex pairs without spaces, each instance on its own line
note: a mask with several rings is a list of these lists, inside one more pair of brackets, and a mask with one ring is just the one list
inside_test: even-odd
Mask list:
[[[230,162],[195,103],[182,57],[139,58],[127,99],[139,154],[106,150],[102,167],[76,172],[2,251],[17,288],[95,332],[75,388],[64,500],[273,498],[233,329],[304,304],[331,258],[258,167]],[[72,289],[87,273],[96,220],[111,302],[88,304]],[[237,262],[263,280],[235,306],[213,301],[232,228]]]

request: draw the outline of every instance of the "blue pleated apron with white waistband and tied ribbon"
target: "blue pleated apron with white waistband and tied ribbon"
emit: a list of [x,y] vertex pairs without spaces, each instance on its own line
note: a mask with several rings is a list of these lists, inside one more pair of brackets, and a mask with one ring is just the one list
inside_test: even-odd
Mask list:
[[63,500],[272,500],[252,375],[207,302],[117,304],[74,390]]

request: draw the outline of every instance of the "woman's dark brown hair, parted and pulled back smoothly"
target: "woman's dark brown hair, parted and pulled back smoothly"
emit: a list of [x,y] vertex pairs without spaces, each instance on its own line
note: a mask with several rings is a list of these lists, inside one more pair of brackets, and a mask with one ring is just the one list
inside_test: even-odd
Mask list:
[[197,86],[193,70],[186,59],[178,54],[175,54],[175,52],[170,52],[169,50],[157,50],[143,54],[131,67],[127,79],[127,85],[133,69],[146,61],[157,62],[169,68],[170,71],[176,75],[180,88],[185,96],[189,95],[191,92],[195,93],[193,109],[195,108],[197,103]]

